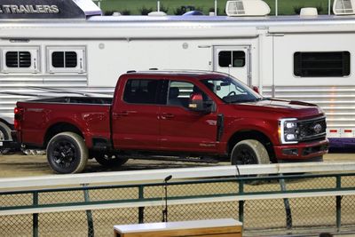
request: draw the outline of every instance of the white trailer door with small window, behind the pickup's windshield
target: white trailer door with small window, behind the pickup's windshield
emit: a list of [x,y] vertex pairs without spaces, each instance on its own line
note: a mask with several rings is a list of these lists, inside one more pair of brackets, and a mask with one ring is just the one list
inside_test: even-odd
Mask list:
[[250,45],[214,46],[213,69],[251,86]]

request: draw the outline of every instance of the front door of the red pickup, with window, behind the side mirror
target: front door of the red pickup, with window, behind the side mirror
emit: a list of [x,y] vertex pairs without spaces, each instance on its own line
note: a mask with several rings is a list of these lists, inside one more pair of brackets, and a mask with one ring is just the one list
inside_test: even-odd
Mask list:
[[188,108],[190,94],[196,90],[199,89],[193,83],[170,81],[167,105],[162,107],[160,115],[162,150],[217,151],[217,114],[206,115]]

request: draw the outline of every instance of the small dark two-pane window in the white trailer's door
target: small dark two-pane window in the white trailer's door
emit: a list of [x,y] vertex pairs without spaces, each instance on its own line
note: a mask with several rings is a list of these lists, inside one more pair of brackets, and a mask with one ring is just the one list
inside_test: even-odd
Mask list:
[[245,51],[219,51],[219,67],[244,67]]

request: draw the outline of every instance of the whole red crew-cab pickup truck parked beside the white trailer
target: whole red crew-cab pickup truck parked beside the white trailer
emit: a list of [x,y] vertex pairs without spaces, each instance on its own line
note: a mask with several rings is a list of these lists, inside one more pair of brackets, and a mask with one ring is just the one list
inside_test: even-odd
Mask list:
[[75,173],[88,159],[122,165],[153,155],[227,158],[232,164],[321,161],[326,118],[316,105],[267,99],[230,75],[131,72],[114,98],[18,102],[15,127],[51,169]]

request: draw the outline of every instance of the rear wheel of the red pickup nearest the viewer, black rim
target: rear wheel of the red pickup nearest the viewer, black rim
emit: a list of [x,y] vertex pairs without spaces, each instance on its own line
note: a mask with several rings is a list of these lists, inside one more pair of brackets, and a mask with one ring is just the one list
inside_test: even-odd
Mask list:
[[62,132],[51,138],[47,146],[47,160],[51,170],[59,174],[83,171],[89,152],[81,136],[74,132]]

